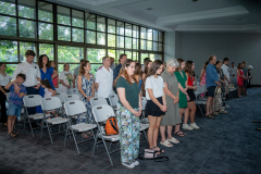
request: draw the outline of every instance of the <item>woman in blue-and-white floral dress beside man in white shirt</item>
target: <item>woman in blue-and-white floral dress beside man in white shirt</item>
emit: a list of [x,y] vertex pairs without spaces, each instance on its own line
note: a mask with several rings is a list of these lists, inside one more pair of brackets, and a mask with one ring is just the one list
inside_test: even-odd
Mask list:
[[[89,61],[83,61],[79,65],[77,86],[80,94],[80,100],[85,103],[87,113],[78,114],[77,123],[95,124],[90,104],[90,99],[95,97],[95,77],[90,71],[91,66]],[[84,138],[88,138],[86,133],[83,133],[82,136]]]

